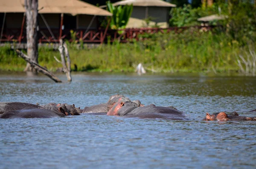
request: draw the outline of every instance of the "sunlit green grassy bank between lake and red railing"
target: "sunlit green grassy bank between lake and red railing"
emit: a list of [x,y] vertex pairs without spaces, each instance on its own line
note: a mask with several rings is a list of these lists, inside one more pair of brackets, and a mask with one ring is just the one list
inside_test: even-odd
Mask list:
[[[256,47],[255,43],[250,46]],[[237,56],[248,47],[214,30],[187,30],[181,34],[154,34],[143,42],[108,43],[90,50],[69,44],[69,52],[71,68],[74,70],[76,64],[78,71],[132,72],[135,65],[143,63],[155,72],[226,72],[240,70]],[[39,64],[55,71],[61,64],[53,56],[60,58],[58,51],[40,48]],[[0,47],[0,70],[23,71],[25,66],[26,62],[9,46]]]

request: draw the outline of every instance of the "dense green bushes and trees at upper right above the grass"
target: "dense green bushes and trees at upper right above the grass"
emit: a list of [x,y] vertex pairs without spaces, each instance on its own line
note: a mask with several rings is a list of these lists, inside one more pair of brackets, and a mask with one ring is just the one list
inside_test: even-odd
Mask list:
[[256,5],[250,0],[218,0],[211,7],[192,8],[190,5],[172,8],[170,26],[196,26],[199,17],[212,14],[226,16],[225,20],[213,21],[209,25],[221,26],[222,32],[233,40],[246,43],[248,39],[256,40]]

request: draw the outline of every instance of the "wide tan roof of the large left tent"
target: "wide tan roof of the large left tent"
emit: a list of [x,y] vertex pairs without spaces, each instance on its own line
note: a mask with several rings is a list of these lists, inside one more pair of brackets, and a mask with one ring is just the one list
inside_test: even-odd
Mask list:
[[[25,11],[24,0],[0,0],[0,12],[14,13]],[[80,0],[38,0],[38,13],[112,15],[104,9]]]

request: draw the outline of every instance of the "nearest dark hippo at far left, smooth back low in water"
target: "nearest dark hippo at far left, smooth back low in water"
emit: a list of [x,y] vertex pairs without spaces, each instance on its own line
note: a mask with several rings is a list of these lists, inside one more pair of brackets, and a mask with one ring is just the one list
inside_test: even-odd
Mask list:
[[35,107],[26,107],[21,110],[11,110],[4,112],[0,115],[0,118],[51,118],[51,117],[62,117],[70,115],[65,112],[62,107],[59,107],[58,111],[52,111],[49,109],[38,109]]

